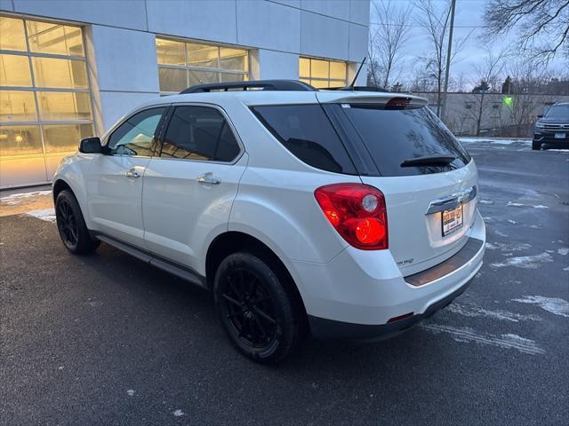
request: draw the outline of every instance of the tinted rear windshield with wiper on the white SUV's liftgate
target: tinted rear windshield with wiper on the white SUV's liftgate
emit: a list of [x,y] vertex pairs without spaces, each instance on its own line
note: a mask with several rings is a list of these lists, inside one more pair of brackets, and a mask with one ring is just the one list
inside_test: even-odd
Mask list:
[[[381,176],[438,173],[460,169],[470,161],[453,133],[427,106],[389,110],[351,104],[341,110],[356,128]],[[453,155],[456,159],[448,166],[401,167],[405,160],[430,155]]]

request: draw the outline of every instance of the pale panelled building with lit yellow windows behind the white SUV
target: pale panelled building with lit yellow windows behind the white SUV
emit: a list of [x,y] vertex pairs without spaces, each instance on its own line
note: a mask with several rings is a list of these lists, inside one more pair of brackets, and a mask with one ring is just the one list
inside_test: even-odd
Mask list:
[[49,182],[79,138],[193,84],[341,86],[366,55],[369,9],[369,0],[0,0],[0,187]]

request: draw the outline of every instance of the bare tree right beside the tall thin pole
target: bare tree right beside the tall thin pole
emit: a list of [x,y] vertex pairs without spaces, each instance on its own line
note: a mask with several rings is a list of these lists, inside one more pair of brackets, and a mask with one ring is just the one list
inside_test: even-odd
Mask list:
[[[446,37],[449,30],[450,2],[447,0],[444,7],[437,8],[434,0],[415,0],[414,6],[419,12],[416,17],[417,23],[421,25],[429,41],[429,55],[422,59],[426,69],[437,83],[437,115],[440,116],[441,90],[446,69]],[[457,59],[467,38],[468,36],[453,42],[451,63]]]

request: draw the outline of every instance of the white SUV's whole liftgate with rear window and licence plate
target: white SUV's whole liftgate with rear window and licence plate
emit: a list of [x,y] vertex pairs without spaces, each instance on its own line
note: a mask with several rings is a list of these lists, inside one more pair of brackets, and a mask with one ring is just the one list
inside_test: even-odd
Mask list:
[[[385,195],[389,250],[408,275],[444,261],[468,241],[476,213],[477,170],[427,106],[388,102],[353,99],[326,107],[351,130],[352,144],[362,157],[372,160],[361,179]],[[404,163],[432,156],[454,160]]]

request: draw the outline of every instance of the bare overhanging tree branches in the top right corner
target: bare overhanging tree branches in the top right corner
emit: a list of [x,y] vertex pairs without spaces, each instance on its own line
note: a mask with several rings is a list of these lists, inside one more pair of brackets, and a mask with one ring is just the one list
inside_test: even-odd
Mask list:
[[489,0],[485,7],[488,30],[493,39],[517,29],[518,48],[549,60],[557,51],[569,59],[569,1]]

